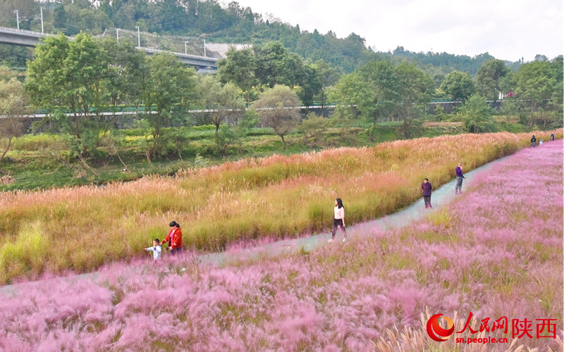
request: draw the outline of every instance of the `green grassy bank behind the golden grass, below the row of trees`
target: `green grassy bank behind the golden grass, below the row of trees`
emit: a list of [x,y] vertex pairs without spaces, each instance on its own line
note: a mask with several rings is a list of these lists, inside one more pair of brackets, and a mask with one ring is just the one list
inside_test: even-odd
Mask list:
[[[99,147],[95,154],[88,156],[88,166],[85,166],[76,158],[69,157],[63,136],[27,134],[14,139],[12,149],[3,162],[2,166],[9,172],[11,182],[0,182],[0,191],[131,181],[145,175],[174,175],[179,168],[202,163],[218,165],[240,158],[264,157],[275,153],[291,155],[336,146],[374,146],[399,139],[399,126],[399,122],[378,125],[372,141],[361,127],[326,127],[309,133],[307,141],[303,134],[295,132],[287,137],[286,145],[271,129],[254,128],[232,140],[224,151],[218,150],[214,126],[178,127],[165,129],[162,146],[150,164],[143,155],[147,148],[144,131],[123,130],[115,143],[119,146],[119,156],[127,165],[128,172],[124,171],[119,158],[109,153],[107,146]],[[417,132],[416,137],[435,137],[460,134],[463,129],[460,126],[432,126],[422,127]],[[148,141],[150,144],[152,138],[149,137]]]

